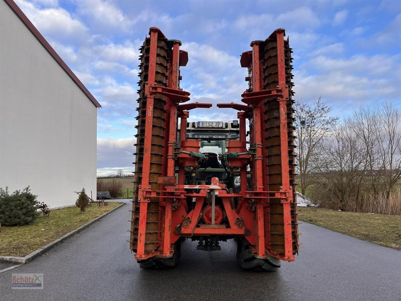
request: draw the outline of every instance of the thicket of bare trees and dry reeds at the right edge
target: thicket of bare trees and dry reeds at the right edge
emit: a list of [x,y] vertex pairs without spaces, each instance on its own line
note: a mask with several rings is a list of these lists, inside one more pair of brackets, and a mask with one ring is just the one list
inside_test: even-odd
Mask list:
[[391,102],[354,108],[322,140],[316,201],[346,211],[400,214],[401,112]]

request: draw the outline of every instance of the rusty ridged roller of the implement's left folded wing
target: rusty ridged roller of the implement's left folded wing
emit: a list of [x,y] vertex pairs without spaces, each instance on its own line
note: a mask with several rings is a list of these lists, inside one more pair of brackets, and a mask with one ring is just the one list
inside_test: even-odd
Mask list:
[[[164,35],[162,35],[163,37]],[[146,85],[149,81],[149,73],[153,72],[153,83],[157,86],[166,87],[167,82],[167,64],[168,64],[168,47],[163,39],[157,40],[156,55],[153,59],[156,65],[150,69],[150,38],[146,38],[140,48],[140,81],[138,82],[140,89],[138,90],[138,125],[136,126],[136,151],[135,155],[135,173],[134,173],[134,193],[132,203],[132,217],[130,228],[130,249],[134,252],[138,251],[138,238],[140,228],[140,207],[141,202],[138,201],[138,190],[141,187],[144,173],[148,178],[148,184],[152,185],[152,189],[159,189],[158,177],[162,175],[163,168],[163,146],[164,146],[164,114],[165,114],[165,99],[160,94],[154,94],[152,115],[147,118],[148,98],[146,93]],[[145,154],[145,130],[146,121],[151,119],[151,138],[150,138],[150,153]],[[144,169],[144,157],[150,159],[148,167]],[[159,199],[157,197],[150,198],[150,202],[142,205],[146,209],[146,226],[145,226],[145,246],[144,251],[156,250],[160,244],[160,219],[159,219]]]

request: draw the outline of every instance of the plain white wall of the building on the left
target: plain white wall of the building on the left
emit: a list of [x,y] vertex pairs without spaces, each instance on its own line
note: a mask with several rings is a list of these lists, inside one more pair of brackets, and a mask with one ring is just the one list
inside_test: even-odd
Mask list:
[[96,196],[96,106],[0,1],[0,187],[51,207]]

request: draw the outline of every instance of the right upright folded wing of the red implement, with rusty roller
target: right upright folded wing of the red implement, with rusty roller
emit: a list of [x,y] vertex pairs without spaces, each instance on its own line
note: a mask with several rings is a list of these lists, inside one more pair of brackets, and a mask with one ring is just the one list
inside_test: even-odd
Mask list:
[[[292,51],[288,40],[284,40],[284,35],[284,29],[278,28],[265,41],[253,41],[252,51],[244,52],[241,56],[241,67],[248,68],[245,80],[249,82],[248,89],[242,94],[242,101],[252,108],[252,111],[249,110],[252,113],[248,114],[249,141],[257,157],[260,154],[259,145],[263,145],[263,167],[258,168],[255,160],[251,162],[253,193],[247,196],[255,199],[255,218],[256,224],[259,225],[255,227],[254,251],[257,251],[258,256],[267,253],[293,261],[293,255],[298,252],[299,246],[294,201],[294,93],[291,82]],[[261,114],[258,113],[259,108]],[[259,142],[260,137],[262,142]],[[279,194],[277,197],[274,197],[274,193],[257,194],[260,186],[263,187],[262,190]],[[245,200],[239,203],[241,214],[246,213],[243,208],[247,207],[247,202]],[[245,220],[245,224],[249,222]],[[247,239],[254,244],[252,236]]]

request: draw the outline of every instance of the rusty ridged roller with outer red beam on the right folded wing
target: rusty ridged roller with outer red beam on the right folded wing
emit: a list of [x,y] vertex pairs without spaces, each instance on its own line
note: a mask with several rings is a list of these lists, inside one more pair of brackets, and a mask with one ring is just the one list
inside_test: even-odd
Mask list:
[[[291,82],[291,52],[288,40],[284,41],[283,31],[276,30],[266,40],[263,49],[263,81],[264,89],[283,89],[284,92],[282,98],[268,98],[264,103],[267,189],[280,191],[283,186],[287,187],[292,192],[292,199],[294,199],[296,184],[294,174],[294,127],[292,120],[292,96],[294,93],[292,92],[293,83]],[[289,216],[286,216],[287,212]],[[295,202],[293,201],[287,205],[283,204],[282,199],[270,199],[269,215],[271,251],[284,256],[298,253],[298,220]],[[287,233],[286,227],[290,227],[290,235]],[[290,239],[289,242],[286,242],[286,239]],[[292,254],[285,253],[288,249],[286,249],[286,243],[292,244]]]

